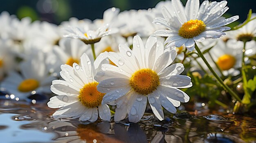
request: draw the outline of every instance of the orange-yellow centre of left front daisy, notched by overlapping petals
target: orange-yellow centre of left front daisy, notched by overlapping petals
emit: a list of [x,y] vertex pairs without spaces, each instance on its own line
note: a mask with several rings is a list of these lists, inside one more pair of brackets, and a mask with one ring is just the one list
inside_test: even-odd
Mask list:
[[82,89],[80,89],[79,101],[88,108],[94,108],[101,105],[101,101],[104,93],[97,90],[98,82],[92,82],[85,84]]

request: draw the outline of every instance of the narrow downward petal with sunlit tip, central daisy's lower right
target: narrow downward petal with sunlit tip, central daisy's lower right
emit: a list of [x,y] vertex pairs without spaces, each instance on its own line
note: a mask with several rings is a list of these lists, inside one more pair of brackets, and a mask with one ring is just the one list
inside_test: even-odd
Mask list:
[[151,94],[148,95],[148,102],[149,105],[153,111],[153,113],[155,114],[155,116],[160,120],[164,120],[164,112],[162,110],[162,106],[158,100],[159,95],[157,94],[157,92],[153,92]]

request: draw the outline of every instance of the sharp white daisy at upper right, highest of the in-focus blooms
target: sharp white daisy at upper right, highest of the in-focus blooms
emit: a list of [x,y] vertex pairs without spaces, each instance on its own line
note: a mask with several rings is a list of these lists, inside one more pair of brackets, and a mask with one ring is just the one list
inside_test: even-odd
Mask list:
[[185,44],[189,51],[193,51],[195,42],[202,42],[207,38],[219,38],[225,35],[223,31],[230,28],[225,26],[238,20],[238,16],[223,18],[229,9],[227,1],[204,1],[199,7],[199,0],[188,0],[184,7],[180,0],[172,0],[172,7],[162,7],[164,18],[155,18],[153,23],[163,25],[168,30],[158,30],[154,34],[167,37],[164,44],[180,47]]

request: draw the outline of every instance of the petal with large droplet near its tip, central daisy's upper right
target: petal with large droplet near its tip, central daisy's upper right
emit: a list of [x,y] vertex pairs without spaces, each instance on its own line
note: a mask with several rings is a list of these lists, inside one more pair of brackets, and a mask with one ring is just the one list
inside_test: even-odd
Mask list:
[[168,66],[160,73],[158,73],[159,78],[167,77],[170,75],[180,75],[184,71],[184,66],[181,63],[172,64]]

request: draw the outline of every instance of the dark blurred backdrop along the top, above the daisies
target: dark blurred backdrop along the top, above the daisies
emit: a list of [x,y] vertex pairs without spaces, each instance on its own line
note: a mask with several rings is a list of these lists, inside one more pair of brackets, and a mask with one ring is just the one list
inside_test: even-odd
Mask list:
[[[45,20],[60,24],[70,17],[94,20],[102,18],[103,11],[118,7],[121,11],[129,9],[148,9],[161,0],[0,0],[0,12],[8,11],[18,18],[29,16],[32,20]],[[203,0],[200,0],[202,3]],[[221,1],[221,0],[216,0]],[[255,0],[227,0],[230,8],[227,13],[239,15],[243,22],[249,9],[256,12]],[[186,3],[186,0],[182,0]]]

